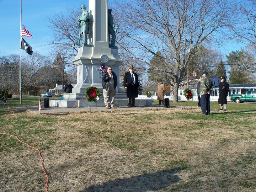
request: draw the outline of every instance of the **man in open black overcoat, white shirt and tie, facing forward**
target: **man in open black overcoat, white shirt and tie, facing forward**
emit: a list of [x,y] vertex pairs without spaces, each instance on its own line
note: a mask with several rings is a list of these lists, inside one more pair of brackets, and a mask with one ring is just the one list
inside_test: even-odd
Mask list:
[[126,89],[126,96],[128,97],[128,107],[135,106],[135,98],[138,97],[138,89],[140,87],[138,75],[133,72],[133,66],[129,67],[130,72],[125,73],[124,87]]

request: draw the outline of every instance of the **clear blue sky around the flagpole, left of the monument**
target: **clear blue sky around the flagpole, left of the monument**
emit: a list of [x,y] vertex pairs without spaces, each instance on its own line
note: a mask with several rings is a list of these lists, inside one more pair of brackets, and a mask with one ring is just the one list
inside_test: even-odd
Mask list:
[[[51,30],[46,26],[46,17],[67,7],[88,7],[88,0],[22,0],[22,24],[33,38],[23,37],[33,47],[32,51],[48,54],[48,48],[41,46],[50,39]],[[0,0],[1,44],[0,56],[19,55],[20,44],[20,0]],[[26,54],[22,50],[22,55]]]

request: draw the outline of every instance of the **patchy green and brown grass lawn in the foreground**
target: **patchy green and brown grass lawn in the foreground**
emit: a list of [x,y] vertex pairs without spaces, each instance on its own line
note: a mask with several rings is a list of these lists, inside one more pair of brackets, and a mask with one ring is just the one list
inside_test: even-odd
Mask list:
[[[40,150],[48,191],[255,191],[256,104],[211,102],[208,116],[197,102],[170,105],[186,107],[8,114],[13,104],[0,108],[0,128]],[[45,191],[40,164],[0,134],[0,191]]]

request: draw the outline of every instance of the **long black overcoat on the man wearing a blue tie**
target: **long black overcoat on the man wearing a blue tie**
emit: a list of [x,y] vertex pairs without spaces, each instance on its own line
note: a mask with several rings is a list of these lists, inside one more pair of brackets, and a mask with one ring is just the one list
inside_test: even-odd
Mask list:
[[137,75],[137,73],[133,73],[133,74],[135,76],[135,84],[134,85],[132,85],[132,83],[131,83],[131,73],[130,72],[125,73],[124,87],[127,87],[127,89],[126,89],[127,97],[139,97],[138,88],[140,87],[140,85],[139,85],[138,75]]

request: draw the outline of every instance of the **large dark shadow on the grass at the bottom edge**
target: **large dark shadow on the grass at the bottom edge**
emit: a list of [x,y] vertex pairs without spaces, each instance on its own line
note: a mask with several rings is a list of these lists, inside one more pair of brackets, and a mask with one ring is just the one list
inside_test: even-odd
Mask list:
[[103,183],[102,185],[93,185],[81,192],[92,191],[157,191],[175,184],[179,181],[179,177],[174,175],[179,173],[182,168],[173,168],[157,171],[136,177],[115,179]]

